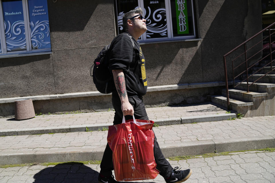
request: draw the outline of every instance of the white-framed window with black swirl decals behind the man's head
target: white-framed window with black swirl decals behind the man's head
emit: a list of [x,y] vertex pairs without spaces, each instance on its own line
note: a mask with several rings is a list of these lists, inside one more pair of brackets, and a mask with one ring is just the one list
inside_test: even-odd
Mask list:
[[116,0],[117,27],[122,33],[125,12],[141,7],[147,31],[140,43],[195,39],[193,0]]

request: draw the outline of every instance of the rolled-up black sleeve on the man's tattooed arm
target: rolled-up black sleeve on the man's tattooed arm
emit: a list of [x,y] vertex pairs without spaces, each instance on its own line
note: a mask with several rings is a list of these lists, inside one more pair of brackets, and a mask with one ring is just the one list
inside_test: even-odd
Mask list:
[[127,71],[133,59],[133,45],[131,38],[128,35],[121,34],[116,40],[110,50],[109,69]]

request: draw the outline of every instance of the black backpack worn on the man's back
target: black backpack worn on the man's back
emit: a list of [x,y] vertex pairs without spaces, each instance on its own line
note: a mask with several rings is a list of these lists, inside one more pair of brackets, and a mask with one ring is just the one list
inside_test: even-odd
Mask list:
[[[128,34],[126,34],[128,35]],[[129,36],[129,35],[128,35]],[[135,49],[134,41],[129,36],[133,49]],[[109,48],[111,44],[106,45],[97,55],[94,64],[90,68],[90,75],[93,77],[95,87],[102,94],[109,94],[115,90],[113,73],[109,69]]]

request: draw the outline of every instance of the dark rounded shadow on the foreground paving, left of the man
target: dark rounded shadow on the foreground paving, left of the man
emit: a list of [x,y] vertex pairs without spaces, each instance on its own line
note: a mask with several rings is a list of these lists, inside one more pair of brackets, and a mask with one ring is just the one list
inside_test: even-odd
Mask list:
[[47,167],[36,173],[34,175],[35,180],[33,183],[97,183],[98,175],[99,172],[83,163],[60,163],[52,167]]

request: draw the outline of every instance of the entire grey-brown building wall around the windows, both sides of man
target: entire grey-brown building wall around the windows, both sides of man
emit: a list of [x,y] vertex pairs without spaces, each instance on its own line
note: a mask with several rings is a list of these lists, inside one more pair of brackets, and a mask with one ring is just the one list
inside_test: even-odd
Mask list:
[[[222,56],[262,29],[260,1],[195,2],[201,40],[141,45],[149,86],[223,81]],[[89,69],[115,37],[113,0],[48,9],[52,54],[1,58],[0,98],[96,91]]]

